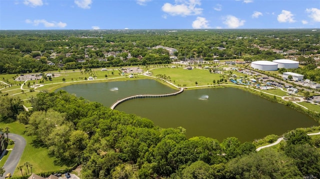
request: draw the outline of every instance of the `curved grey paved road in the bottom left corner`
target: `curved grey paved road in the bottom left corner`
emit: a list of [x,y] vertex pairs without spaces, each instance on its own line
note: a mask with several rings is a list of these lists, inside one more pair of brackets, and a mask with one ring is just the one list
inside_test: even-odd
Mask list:
[[12,149],[10,156],[8,157],[3,166],[5,173],[2,177],[0,177],[0,179],[4,179],[7,173],[13,175],[13,172],[16,170],[16,166],[19,163],[19,160],[22,156],[26,144],[25,139],[22,136],[16,134],[9,133],[9,139],[14,141],[14,148]]

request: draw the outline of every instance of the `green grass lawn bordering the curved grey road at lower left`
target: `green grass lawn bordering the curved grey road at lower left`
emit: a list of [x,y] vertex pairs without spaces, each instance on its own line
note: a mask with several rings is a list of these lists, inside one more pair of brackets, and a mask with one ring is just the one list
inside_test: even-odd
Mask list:
[[[25,126],[18,122],[12,123],[3,123],[0,122],[0,126],[2,128],[9,127],[10,133],[18,134],[24,137],[26,141],[26,146],[24,148],[23,154],[17,166],[23,165],[25,162],[29,162],[32,164],[32,172],[33,173],[40,173],[40,172],[47,172],[47,171],[55,171],[66,168],[66,166],[56,166],[54,165],[54,159],[50,158],[47,155],[47,149],[41,147],[34,147],[32,146],[32,137],[26,136],[24,134]],[[4,161],[4,160],[3,160]],[[1,160],[2,163],[2,160]],[[4,163],[3,163],[4,164]],[[23,174],[27,173],[25,167],[23,167]],[[21,173],[19,170],[15,170],[13,176],[20,176]]]

